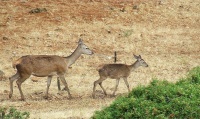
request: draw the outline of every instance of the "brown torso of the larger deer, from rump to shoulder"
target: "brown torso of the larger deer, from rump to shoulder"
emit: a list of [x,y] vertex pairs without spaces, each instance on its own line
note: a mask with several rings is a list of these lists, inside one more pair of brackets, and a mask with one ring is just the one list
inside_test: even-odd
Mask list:
[[36,76],[48,76],[65,73],[66,61],[56,55],[27,55],[18,59],[14,65],[17,70]]

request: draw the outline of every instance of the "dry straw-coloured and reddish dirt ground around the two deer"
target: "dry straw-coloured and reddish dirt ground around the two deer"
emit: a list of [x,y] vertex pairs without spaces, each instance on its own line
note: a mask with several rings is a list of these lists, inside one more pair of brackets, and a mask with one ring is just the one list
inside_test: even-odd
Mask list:
[[[152,79],[176,82],[200,65],[199,13],[199,0],[1,0],[0,70],[5,78],[0,79],[0,107],[28,111],[31,118],[88,119],[127,94],[121,80],[116,97],[111,97],[116,82],[108,79],[103,85],[109,95],[97,86],[97,98],[91,96],[99,78],[97,67],[113,63],[114,51],[117,63],[132,64],[133,54],[140,54],[149,64],[131,73],[131,88]],[[73,99],[58,91],[54,77],[45,100],[47,78],[33,76],[22,84],[26,101],[19,100],[15,82],[13,97],[8,98],[8,78],[16,72],[13,60],[24,55],[68,56],[79,38],[94,55],[82,55],[68,70]]]

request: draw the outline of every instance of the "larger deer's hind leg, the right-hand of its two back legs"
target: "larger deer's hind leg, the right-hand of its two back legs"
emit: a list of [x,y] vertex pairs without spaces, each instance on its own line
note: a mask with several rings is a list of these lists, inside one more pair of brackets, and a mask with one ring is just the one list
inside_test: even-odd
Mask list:
[[24,94],[23,94],[22,89],[21,89],[21,84],[29,77],[30,77],[29,74],[21,74],[20,78],[16,81],[22,101],[24,101],[25,98],[24,98]]

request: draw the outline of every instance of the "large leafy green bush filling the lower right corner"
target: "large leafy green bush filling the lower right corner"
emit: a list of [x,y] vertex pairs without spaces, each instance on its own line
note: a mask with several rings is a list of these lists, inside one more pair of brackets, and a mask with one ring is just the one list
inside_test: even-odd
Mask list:
[[196,119],[200,117],[200,67],[173,84],[153,80],[95,112],[93,119]]

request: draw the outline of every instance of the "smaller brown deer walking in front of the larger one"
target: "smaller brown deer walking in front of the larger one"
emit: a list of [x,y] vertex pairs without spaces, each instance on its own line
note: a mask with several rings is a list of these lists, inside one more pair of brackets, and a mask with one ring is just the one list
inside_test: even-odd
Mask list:
[[148,67],[148,64],[141,58],[140,55],[139,56],[134,55],[134,57],[137,59],[137,61],[135,61],[135,63],[133,63],[132,65],[126,65],[126,64],[105,64],[105,65],[103,65],[98,70],[100,78],[94,82],[92,97],[95,98],[95,89],[96,89],[97,84],[100,85],[104,94],[107,95],[106,90],[102,86],[102,82],[104,80],[106,80],[107,78],[116,79],[115,90],[112,94],[113,96],[115,95],[115,92],[119,85],[119,80],[121,78],[124,79],[124,82],[128,88],[128,91],[130,92],[129,84],[127,82],[127,77],[130,75],[131,71],[134,71],[139,66]]

